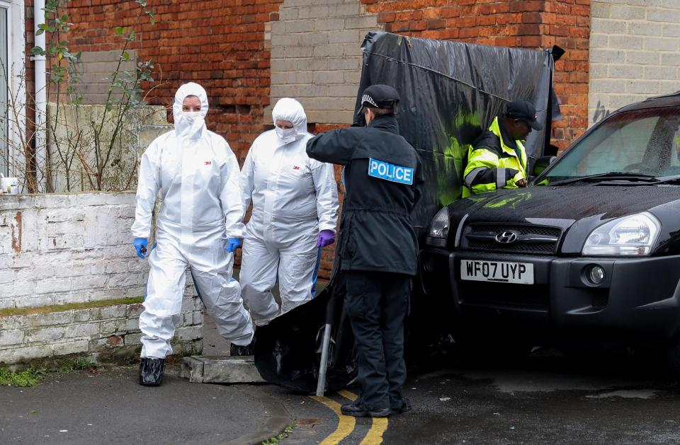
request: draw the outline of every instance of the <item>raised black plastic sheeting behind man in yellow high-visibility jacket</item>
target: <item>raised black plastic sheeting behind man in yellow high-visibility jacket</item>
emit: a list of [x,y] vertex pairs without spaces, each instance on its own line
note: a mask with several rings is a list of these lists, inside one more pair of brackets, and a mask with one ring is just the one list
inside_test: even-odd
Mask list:
[[[468,144],[511,100],[536,106],[543,130],[532,131],[525,147],[533,161],[550,140],[550,122],[559,117],[552,92],[559,47],[536,51],[368,33],[363,42],[361,91],[386,83],[399,91],[399,131],[423,160],[428,193],[412,215],[426,229],[438,209],[460,198]],[[552,100],[551,100],[552,99]],[[555,110],[553,110],[555,108]],[[355,125],[363,125],[363,115]]]

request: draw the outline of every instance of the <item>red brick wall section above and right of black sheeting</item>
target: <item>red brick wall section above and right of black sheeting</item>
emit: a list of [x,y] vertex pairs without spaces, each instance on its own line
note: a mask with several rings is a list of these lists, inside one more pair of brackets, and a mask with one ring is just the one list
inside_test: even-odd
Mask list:
[[[564,120],[553,144],[566,148],[588,126],[590,0],[361,0],[391,33],[482,45],[549,48],[566,54],[555,64],[555,92]],[[445,4],[445,6],[440,6]]]

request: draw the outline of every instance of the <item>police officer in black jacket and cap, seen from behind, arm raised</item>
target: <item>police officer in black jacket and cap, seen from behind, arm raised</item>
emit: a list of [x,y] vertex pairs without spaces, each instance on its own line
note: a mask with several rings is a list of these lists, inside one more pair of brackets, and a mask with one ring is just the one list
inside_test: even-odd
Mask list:
[[367,127],[334,129],[307,141],[310,158],[345,166],[345,200],[336,248],[345,304],[358,348],[361,395],[344,415],[386,417],[410,410],[404,318],[418,241],[410,214],[423,183],[416,150],[399,135],[399,94],[387,85],[363,91]]

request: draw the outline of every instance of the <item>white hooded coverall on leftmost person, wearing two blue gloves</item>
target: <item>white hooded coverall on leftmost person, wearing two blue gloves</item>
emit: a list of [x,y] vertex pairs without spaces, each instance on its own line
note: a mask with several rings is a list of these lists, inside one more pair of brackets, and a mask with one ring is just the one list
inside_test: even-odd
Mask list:
[[[187,96],[198,96],[198,115],[182,111]],[[217,330],[236,345],[253,337],[239,283],[232,279],[227,237],[241,237],[239,164],[227,141],[205,127],[208,96],[197,83],[182,85],[172,106],[175,129],[157,137],[142,155],[132,236],[148,238],[158,190],[163,207],[156,243],[149,253],[149,281],[140,315],[142,357],[164,358],[179,321],[191,267],[196,291],[215,318]]]

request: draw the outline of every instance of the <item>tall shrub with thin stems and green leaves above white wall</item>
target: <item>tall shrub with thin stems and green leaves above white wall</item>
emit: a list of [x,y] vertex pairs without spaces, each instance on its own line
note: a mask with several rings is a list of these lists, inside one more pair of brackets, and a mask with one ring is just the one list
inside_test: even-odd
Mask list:
[[[133,117],[135,110],[146,105],[142,82],[154,83],[151,60],[137,62],[134,70],[123,69],[124,64],[135,62],[130,55],[130,45],[137,40],[135,26],[142,18],[155,23],[154,11],[147,8],[146,0],[135,0],[140,8],[132,26],[118,26],[115,37],[122,39],[115,71],[106,78],[108,93],[101,112],[86,111],[79,92],[81,52],[69,50],[67,33],[73,23],[69,20],[67,4],[70,0],[46,0],[45,23],[38,26],[37,35],[47,33],[45,48],[33,47],[34,55],[47,59],[50,82],[48,96],[55,98],[52,115],[47,120],[50,144],[47,146],[47,188],[49,191],[73,190],[127,190],[135,178],[137,156],[129,154],[123,161],[120,136],[125,120]],[[152,91],[156,86],[149,89]],[[147,92],[148,94],[148,92]],[[67,105],[71,108],[67,109]],[[54,151],[51,153],[50,151]],[[63,178],[65,184],[57,184]]]

